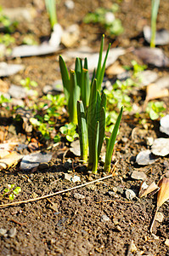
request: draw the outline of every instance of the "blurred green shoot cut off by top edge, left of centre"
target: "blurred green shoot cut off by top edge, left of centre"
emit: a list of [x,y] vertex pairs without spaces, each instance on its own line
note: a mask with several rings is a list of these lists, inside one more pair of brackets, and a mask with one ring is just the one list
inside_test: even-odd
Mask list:
[[45,0],[45,4],[50,19],[50,25],[53,29],[54,25],[58,23],[56,15],[56,0]]

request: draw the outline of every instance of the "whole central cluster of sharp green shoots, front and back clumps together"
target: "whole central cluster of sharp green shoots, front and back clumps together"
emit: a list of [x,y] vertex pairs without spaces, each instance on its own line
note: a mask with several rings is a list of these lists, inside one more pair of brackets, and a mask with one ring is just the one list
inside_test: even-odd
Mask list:
[[[100,45],[98,67],[96,71],[93,71],[91,81],[87,69],[87,58],[84,60],[84,66],[82,65],[82,60],[76,58],[75,70],[70,70],[69,74],[65,61],[61,55],[59,56],[59,67],[64,84],[65,100],[70,122],[78,123],[81,160],[87,162],[88,170],[91,170],[93,173],[97,173],[99,154],[104,142],[105,131],[106,96],[104,92],[101,92],[101,84],[104,79],[105,63],[110,45],[102,65],[103,49],[104,36]],[[105,172],[110,172],[110,163],[121,122],[122,109],[121,107],[111,136],[106,137]],[[87,158],[88,149],[89,158]]]

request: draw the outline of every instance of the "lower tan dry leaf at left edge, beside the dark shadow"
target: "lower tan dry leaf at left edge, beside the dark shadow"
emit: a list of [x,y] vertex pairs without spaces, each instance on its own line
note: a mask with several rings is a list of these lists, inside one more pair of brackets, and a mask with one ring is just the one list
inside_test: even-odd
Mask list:
[[22,157],[23,155],[16,152],[8,154],[5,158],[0,160],[0,171],[11,166],[16,166]]

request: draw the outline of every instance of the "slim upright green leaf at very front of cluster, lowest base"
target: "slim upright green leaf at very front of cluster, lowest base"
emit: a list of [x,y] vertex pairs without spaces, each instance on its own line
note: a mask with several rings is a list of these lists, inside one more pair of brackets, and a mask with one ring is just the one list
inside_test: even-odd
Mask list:
[[99,122],[96,123],[96,128],[94,129],[93,138],[93,173],[97,173],[98,169],[98,144],[99,144]]

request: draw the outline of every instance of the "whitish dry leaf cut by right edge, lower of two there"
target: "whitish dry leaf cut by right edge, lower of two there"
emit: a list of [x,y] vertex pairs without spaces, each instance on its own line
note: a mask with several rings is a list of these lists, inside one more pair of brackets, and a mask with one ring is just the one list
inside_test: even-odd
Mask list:
[[169,154],[169,138],[160,137],[155,139],[151,152],[155,155],[161,156]]

